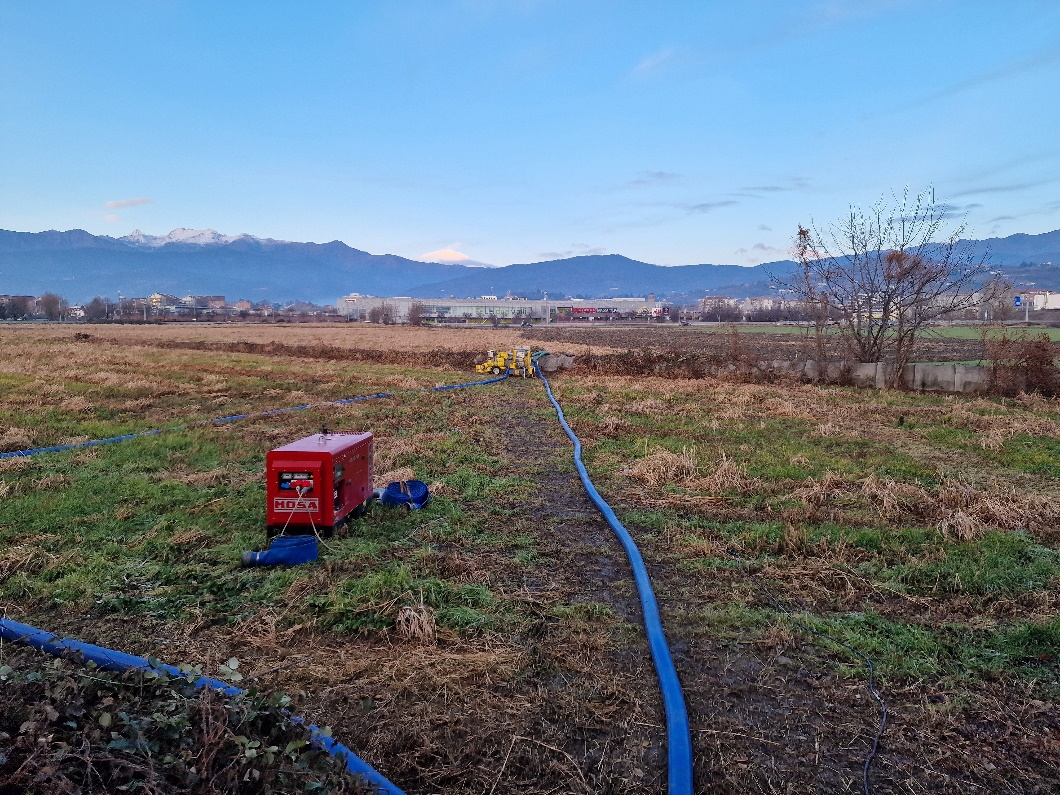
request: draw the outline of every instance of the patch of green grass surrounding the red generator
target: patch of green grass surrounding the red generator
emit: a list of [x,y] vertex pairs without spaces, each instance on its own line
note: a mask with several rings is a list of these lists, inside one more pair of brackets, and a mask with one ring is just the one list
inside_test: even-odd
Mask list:
[[[361,378],[411,374],[427,384],[439,378],[407,368],[357,370]],[[218,403],[212,413],[297,403],[282,393],[282,382],[269,383],[281,394],[259,393],[251,405],[236,407]],[[241,387],[263,391],[245,381]],[[375,391],[377,385],[357,384],[329,398]],[[0,598],[75,612],[229,624],[272,606],[284,610],[286,624],[317,622],[349,633],[392,626],[401,605],[389,602],[418,603],[422,591],[444,628],[480,632],[495,626],[509,612],[505,599],[484,585],[454,581],[444,566],[436,570],[444,563],[440,545],[472,556],[501,551],[522,566],[538,563],[533,538],[508,531],[534,498],[535,484],[507,474],[506,462],[488,454],[494,440],[469,444],[463,438],[461,428],[480,427],[478,405],[489,400],[472,392],[406,395],[30,459],[0,475],[7,489],[0,501],[0,550],[32,549],[42,535],[50,541],[29,565],[13,559],[7,576],[0,576]],[[63,417],[59,409],[42,408],[38,417],[48,419],[43,435],[99,430],[102,436],[128,428]],[[436,497],[413,514],[377,508],[353,524],[351,537],[328,541],[320,565],[334,572],[330,586],[311,582],[317,567],[240,568],[241,553],[265,541],[265,450],[277,443],[271,440],[297,439],[324,422],[413,441],[448,429],[446,439],[402,454],[394,465],[413,466],[428,481],[443,479],[453,496]],[[286,432],[262,440],[262,432],[280,429]],[[225,475],[213,484],[195,483],[196,474],[211,472]],[[419,537],[424,527],[429,533]],[[310,598],[287,604],[285,593],[303,585],[310,586]]]

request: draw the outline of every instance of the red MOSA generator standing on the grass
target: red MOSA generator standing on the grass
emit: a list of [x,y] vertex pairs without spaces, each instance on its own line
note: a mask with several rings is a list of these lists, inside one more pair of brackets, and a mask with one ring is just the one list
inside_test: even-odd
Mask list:
[[265,478],[270,536],[332,535],[372,497],[372,435],[324,430],[277,447]]

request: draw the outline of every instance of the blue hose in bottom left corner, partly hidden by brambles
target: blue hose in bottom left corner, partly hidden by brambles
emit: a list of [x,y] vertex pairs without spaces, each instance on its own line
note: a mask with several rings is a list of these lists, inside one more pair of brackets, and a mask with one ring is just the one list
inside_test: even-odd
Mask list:
[[[60,639],[50,632],[13,621],[10,618],[0,618],[0,638],[25,643],[26,646],[32,646],[34,649],[39,649],[42,652],[48,652],[56,656],[61,656],[69,652],[80,653],[85,660],[92,661],[100,668],[108,671],[162,670],[171,676],[187,676],[186,673],[175,666],[165,664],[152,665],[146,658],[138,657],[135,654],[126,654],[125,652],[105,649],[102,646],[85,643],[81,640],[72,640],[71,638]],[[233,697],[244,694],[244,691],[240,688],[219,679],[212,679],[209,676],[199,676],[195,681],[195,687],[209,687]],[[350,773],[360,776],[372,789],[378,791],[381,795],[405,795],[398,787],[387,780],[382,773],[359,758],[350,748],[337,742],[334,738],[324,735],[313,724],[306,725],[303,719],[290,714],[287,717],[292,723],[305,725],[310,732],[310,740],[315,746],[340,759],[346,763],[346,768]]]

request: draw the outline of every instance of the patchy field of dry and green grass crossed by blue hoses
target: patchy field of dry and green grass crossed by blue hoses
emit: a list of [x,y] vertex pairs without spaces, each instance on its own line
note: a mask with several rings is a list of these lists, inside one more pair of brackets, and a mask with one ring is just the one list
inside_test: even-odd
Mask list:
[[[234,656],[409,793],[665,792],[628,564],[540,383],[319,405],[471,381],[461,363],[516,339],[0,329],[7,450],[317,406],[0,460],[0,610],[211,673]],[[699,792],[861,791],[879,711],[860,658],[814,632],[876,664],[876,795],[1057,791],[1060,403],[578,370],[553,388],[651,571]],[[379,479],[435,498],[373,509],[316,564],[240,568],[265,453],[323,423],[373,431]]]

